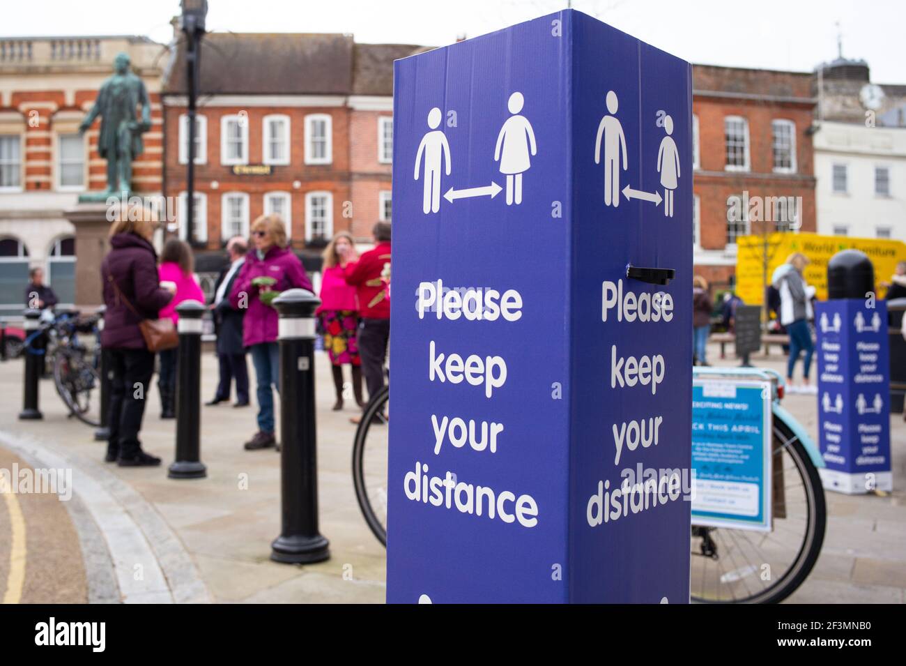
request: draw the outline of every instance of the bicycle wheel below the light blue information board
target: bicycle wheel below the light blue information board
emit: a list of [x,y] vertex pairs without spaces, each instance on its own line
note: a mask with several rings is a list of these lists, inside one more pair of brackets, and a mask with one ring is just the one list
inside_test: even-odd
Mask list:
[[824,487],[808,452],[774,420],[770,532],[692,526],[690,596],[703,603],[778,603],[812,571],[824,542]]

